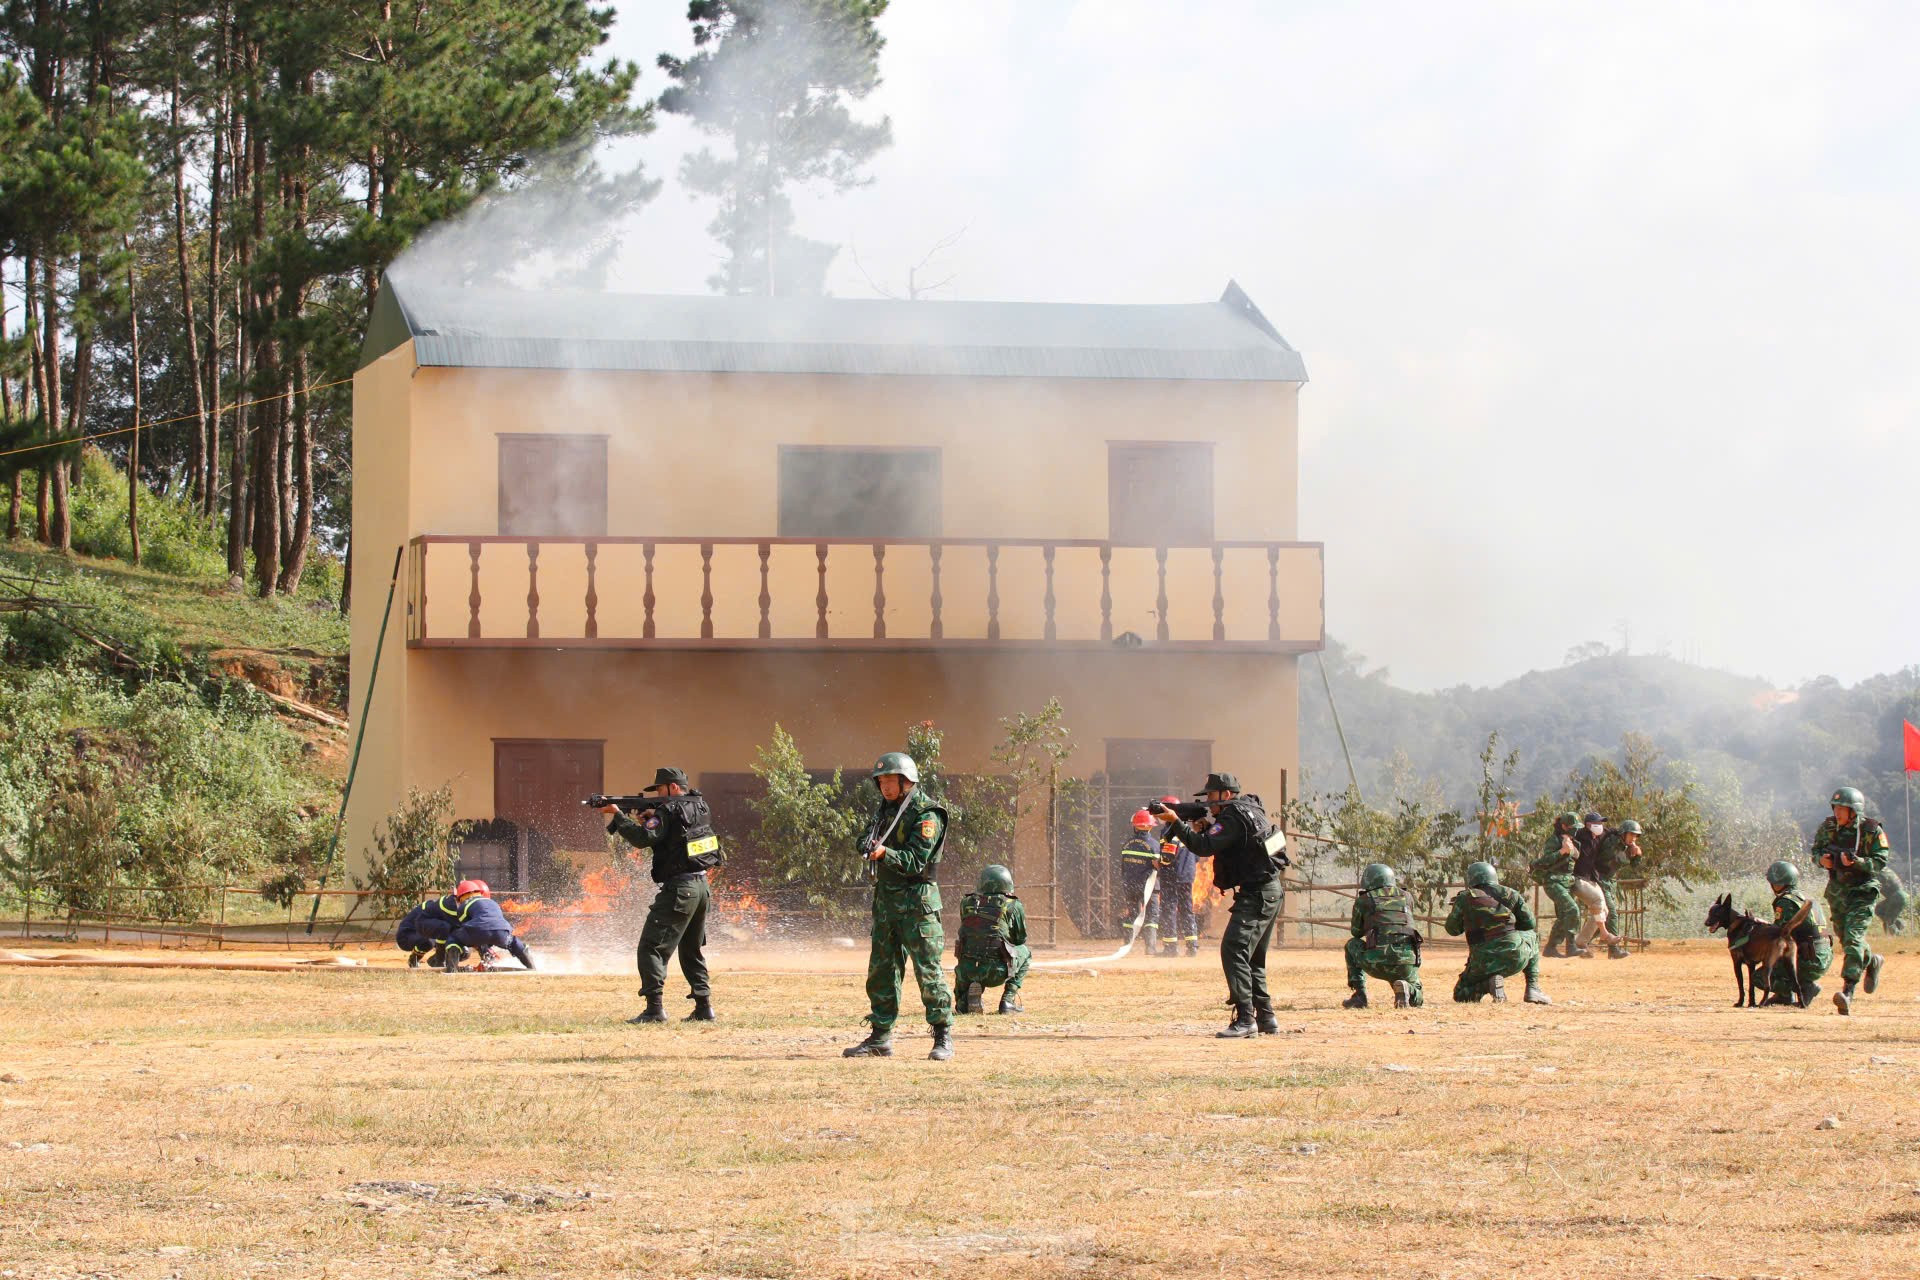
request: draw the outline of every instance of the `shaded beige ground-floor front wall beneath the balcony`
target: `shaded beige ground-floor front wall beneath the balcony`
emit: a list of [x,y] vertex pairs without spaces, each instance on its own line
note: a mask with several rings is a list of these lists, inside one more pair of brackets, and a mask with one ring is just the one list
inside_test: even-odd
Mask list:
[[[1000,718],[1060,697],[1077,752],[1098,773],[1106,739],[1204,739],[1215,768],[1279,800],[1298,789],[1296,658],[1281,654],[900,654],[409,651],[401,785],[451,783],[461,818],[493,812],[493,739],[605,739],[609,791],[653,768],[747,771],[774,723],[818,768],[864,766],[910,722],[947,731],[956,771],[987,771]],[[382,677],[384,679],[384,677]],[[1192,779],[1198,787],[1202,779]]]

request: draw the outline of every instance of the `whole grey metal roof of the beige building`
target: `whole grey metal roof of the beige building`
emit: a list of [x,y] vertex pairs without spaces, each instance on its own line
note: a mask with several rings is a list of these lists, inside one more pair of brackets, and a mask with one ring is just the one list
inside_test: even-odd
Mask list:
[[1083,305],[689,297],[442,288],[388,278],[361,367],[1306,382],[1233,282],[1219,301]]

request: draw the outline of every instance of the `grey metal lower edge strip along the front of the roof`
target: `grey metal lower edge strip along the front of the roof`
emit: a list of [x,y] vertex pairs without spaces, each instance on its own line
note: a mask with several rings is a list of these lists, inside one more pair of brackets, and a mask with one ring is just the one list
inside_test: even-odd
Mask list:
[[1292,347],[1240,351],[918,347],[872,344],[622,342],[415,334],[415,359],[438,368],[580,368],[624,372],[1112,378],[1306,382]]

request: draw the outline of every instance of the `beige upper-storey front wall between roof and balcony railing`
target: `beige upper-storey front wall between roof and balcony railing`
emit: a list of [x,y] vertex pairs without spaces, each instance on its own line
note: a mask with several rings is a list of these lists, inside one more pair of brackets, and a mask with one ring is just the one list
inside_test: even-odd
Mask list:
[[609,533],[766,537],[780,445],[929,445],[947,537],[1102,539],[1106,441],[1152,439],[1217,443],[1215,537],[1298,537],[1281,382],[422,368],[413,403],[417,533],[497,530],[497,434],[578,432],[609,436]]

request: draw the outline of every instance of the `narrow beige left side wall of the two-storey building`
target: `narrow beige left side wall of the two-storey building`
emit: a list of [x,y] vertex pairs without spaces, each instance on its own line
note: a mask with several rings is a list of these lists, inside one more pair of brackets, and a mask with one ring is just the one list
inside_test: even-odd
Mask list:
[[[374,641],[386,604],[394,551],[413,535],[411,484],[413,344],[388,351],[353,376],[353,620],[348,714],[359,729],[372,676]],[[361,735],[359,768],[340,839],[344,864],[363,867],[374,823],[405,794],[407,768],[407,564],[394,595],[394,620],[380,658],[378,697]]]

